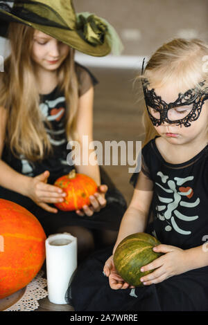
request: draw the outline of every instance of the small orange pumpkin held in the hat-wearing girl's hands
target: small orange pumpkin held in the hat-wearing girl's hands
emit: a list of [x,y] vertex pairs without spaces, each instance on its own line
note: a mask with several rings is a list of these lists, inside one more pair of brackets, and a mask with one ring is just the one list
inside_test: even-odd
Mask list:
[[63,202],[54,204],[62,211],[80,210],[83,205],[90,205],[89,196],[98,190],[96,182],[91,177],[77,174],[75,169],[55,180],[54,185],[67,193]]

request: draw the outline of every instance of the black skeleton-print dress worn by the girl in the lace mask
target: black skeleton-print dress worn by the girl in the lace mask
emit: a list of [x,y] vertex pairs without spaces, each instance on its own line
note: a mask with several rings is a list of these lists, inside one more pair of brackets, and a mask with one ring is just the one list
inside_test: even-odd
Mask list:
[[[157,137],[155,137],[157,138]],[[146,232],[161,243],[184,250],[208,250],[208,145],[189,161],[166,163],[155,139],[141,151],[141,171],[153,201]],[[132,175],[135,186],[139,173]],[[87,311],[208,310],[208,266],[170,277],[159,284],[112,290],[103,266],[112,248],[95,253],[78,268],[68,290],[69,304]]]

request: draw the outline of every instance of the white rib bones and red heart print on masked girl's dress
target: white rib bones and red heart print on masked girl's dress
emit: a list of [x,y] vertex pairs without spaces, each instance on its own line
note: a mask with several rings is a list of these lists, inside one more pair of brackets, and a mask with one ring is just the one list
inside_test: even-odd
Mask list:
[[178,178],[174,177],[173,180],[169,179],[168,176],[164,175],[161,171],[158,171],[158,176],[161,177],[162,183],[164,185],[168,185],[168,187],[164,187],[159,183],[155,183],[158,187],[160,187],[164,192],[173,194],[173,198],[165,197],[165,196],[158,196],[159,202],[162,205],[157,205],[157,217],[161,221],[166,221],[168,225],[166,225],[165,230],[171,231],[174,229],[176,232],[180,234],[191,234],[189,230],[183,230],[177,225],[177,218],[182,221],[194,221],[198,219],[198,216],[186,216],[181,214],[177,207],[187,207],[187,213],[189,212],[190,207],[196,207],[200,203],[200,198],[196,198],[193,202],[184,201],[185,198],[188,200],[191,199],[193,196],[193,189],[189,186],[182,187],[184,183],[193,180],[193,176],[189,176],[187,178]]

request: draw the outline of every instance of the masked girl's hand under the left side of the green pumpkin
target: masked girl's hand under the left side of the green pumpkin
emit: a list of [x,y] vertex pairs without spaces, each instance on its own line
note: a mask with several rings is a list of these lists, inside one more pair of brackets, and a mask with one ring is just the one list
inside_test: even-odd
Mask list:
[[109,278],[110,288],[114,290],[135,288],[134,286],[130,286],[127,282],[125,282],[122,277],[117,273],[116,268],[114,266],[113,255],[111,255],[109,259],[107,259],[107,261],[105,262],[103,273],[106,277]]

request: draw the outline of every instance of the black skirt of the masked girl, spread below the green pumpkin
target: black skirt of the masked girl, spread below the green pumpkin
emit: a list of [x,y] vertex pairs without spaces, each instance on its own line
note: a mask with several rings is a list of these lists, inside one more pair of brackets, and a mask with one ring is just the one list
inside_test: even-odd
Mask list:
[[67,301],[76,311],[208,311],[208,267],[159,284],[112,290],[103,266],[113,247],[92,254],[76,270]]

